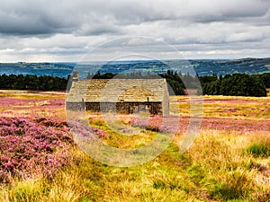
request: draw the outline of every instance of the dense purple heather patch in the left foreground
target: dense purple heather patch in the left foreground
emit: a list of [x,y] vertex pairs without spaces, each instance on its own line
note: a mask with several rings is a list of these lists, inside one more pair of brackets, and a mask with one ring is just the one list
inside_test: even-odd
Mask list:
[[54,119],[0,118],[0,182],[40,171],[52,177],[70,163],[73,144],[65,122]]

